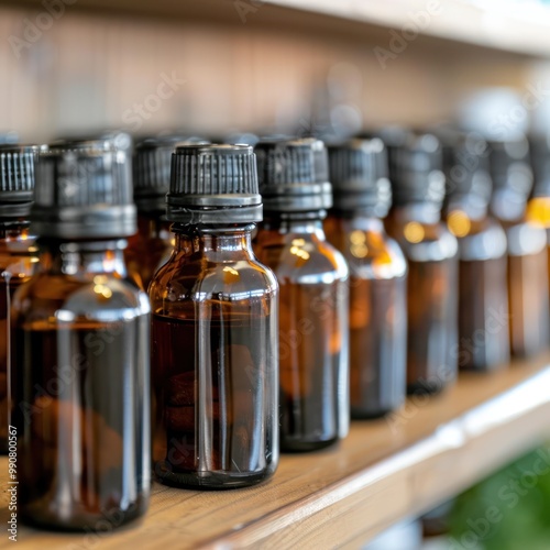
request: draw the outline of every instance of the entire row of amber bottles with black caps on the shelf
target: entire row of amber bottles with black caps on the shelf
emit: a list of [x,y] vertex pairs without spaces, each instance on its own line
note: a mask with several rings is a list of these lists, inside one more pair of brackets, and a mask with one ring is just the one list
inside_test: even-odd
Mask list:
[[527,160],[461,134],[158,138],[132,186],[108,138],[0,147],[0,435],[16,429],[23,517],[124,522],[151,472],[258,483],[350,416],[540,352]]

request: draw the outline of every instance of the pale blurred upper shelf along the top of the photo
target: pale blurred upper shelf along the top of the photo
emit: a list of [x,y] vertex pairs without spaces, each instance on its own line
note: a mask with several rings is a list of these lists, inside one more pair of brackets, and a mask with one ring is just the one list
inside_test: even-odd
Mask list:
[[[0,0],[40,10],[40,0]],[[391,50],[388,29],[405,44],[416,34],[454,45],[550,56],[550,6],[514,0],[78,0],[67,10],[118,11],[163,18],[266,24],[278,30],[311,28],[365,36]],[[399,48],[400,46],[397,46]]]

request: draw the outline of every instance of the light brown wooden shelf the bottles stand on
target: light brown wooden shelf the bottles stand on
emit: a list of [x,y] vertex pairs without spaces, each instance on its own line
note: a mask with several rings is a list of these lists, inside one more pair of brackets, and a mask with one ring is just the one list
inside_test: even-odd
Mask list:
[[[490,375],[461,375],[439,397],[354,422],[336,449],[282,457],[264,485],[200,493],[155,484],[146,517],[116,534],[85,538],[20,526],[18,548],[356,548],[550,437],[549,364],[546,355]],[[7,473],[2,458],[2,487]],[[6,521],[6,492],[2,499]],[[4,531],[0,548],[10,544]]]

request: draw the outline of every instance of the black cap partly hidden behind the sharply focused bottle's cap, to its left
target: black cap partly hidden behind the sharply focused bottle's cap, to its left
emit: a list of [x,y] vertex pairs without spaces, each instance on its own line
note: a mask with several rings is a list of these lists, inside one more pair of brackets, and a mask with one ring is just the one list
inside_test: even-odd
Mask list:
[[163,135],[145,138],[134,147],[134,201],[141,212],[166,211],[170,186],[172,153],[176,145],[208,144],[201,138]]

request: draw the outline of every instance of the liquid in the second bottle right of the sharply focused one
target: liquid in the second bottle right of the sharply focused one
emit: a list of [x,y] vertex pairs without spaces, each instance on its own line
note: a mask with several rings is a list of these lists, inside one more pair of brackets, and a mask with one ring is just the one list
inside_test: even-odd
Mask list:
[[405,277],[350,284],[350,396],[354,418],[383,416],[403,404]]

